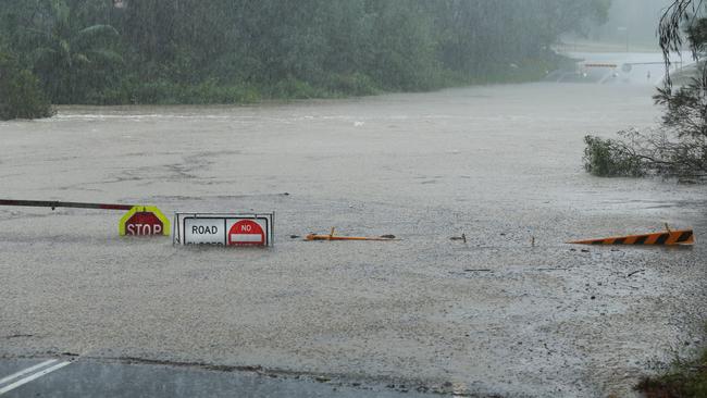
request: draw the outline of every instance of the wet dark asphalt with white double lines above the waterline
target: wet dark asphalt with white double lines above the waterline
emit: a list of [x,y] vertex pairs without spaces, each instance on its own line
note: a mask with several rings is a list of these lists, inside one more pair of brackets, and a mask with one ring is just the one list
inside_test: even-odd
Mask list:
[[21,397],[421,397],[406,386],[363,386],[299,375],[82,358],[0,360],[0,396]]

